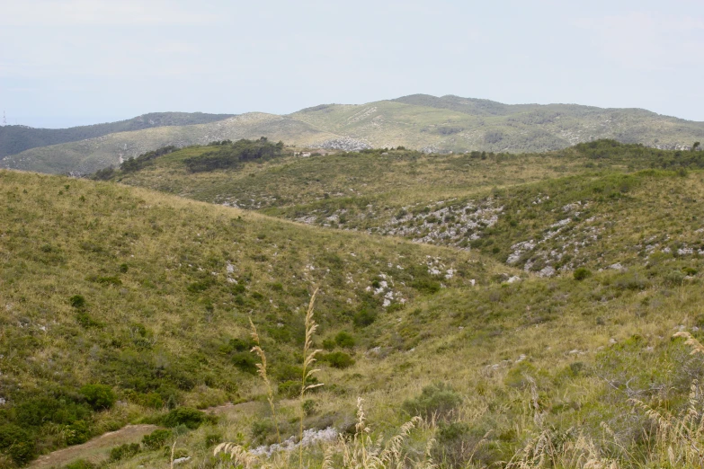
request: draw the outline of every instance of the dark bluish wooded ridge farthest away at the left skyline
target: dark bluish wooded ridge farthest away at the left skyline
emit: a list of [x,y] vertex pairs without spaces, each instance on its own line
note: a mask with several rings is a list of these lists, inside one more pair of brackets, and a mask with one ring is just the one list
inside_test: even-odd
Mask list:
[[0,127],[0,159],[38,146],[76,142],[78,140],[103,137],[117,132],[142,130],[144,128],[205,124],[229,117],[233,117],[233,115],[204,114],[202,112],[151,112],[133,119],[72,128],[4,126]]

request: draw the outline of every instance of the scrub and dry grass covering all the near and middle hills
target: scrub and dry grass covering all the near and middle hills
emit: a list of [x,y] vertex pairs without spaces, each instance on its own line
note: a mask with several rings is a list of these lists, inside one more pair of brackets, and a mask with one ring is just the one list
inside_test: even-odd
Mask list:
[[700,467],[704,153],[294,152],[0,173],[0,467]]

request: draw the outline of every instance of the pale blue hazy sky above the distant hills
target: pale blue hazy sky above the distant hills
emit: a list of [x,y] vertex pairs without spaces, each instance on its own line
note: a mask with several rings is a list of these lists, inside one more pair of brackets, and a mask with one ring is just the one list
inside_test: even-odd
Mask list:
[[701,0],[0,0],[0,112],[31,127],[414,93],[704,121],[702,58]]

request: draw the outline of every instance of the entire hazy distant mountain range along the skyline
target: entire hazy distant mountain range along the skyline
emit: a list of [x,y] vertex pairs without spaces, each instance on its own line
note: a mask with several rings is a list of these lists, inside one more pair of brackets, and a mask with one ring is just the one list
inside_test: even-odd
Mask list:
[[439,153],[540,152],[598,138],[687,149],[704,139],[704,122],[641,109],[414,94],[367,104],[324,104],[284,116],[165,112],[67,129],[8,126],[0,128],[0,167],[93,173],[160,146],[261,136],[300,147],[405,146]]

